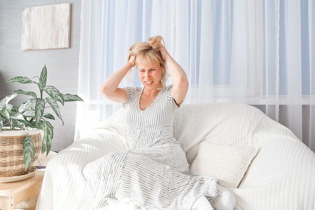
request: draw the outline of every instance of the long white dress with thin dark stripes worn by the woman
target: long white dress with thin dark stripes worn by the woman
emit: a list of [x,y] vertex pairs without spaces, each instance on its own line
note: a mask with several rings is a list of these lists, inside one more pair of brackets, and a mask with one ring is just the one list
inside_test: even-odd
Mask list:
[[128,144],[130,150],[110,153],[84,169],[90,209],[119,203],[135,209],[191,209],[201,195],[217,195],[213,177],[189,172],[189,164],[173,136],[173,114],[179,108],[165,87],[145,110],[139,107],[143,91],[127,87]]

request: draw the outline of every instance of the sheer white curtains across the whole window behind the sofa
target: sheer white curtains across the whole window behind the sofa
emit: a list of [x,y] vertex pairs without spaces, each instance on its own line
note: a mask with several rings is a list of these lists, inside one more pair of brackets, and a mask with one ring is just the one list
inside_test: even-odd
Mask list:
[[[263,106],[315,150],[312,14],[311,0],[82,0],[78,94],[85,103],[77,105],[75,139],[121,107],[99,88],[129,47],[161,35],[189,78],[185,103]],[[136,72],[124,86],[141,86]]]

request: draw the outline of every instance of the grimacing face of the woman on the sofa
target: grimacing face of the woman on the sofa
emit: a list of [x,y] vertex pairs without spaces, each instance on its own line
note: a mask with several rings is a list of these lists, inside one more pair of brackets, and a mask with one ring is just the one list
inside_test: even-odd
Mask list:
[[156,89],[160,86],[162,71],[164,71],[160,64],[151,64],[148,66],[140,64],[137,68],[138,76],[145,88]]

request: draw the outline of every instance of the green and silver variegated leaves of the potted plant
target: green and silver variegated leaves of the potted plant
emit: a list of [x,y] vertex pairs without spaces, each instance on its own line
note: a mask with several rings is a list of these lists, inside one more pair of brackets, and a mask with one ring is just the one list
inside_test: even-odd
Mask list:
[[[34,159],[34,139],[29,134],[35,129],[42,130],[43,138],[41,142],[41,153],[48,154],[51,149],[51,143],[53,138],[53,126],[49,120],[55,120],[54,115],[46,110],[50,110],[54,113],[63,124],[63,120],[60,114],[59,105],[64,102],[70,101],[83,101],[77,95],[62,94],[55,87],[46,85],[47,69],[46,65],[43,67],[38,82],[26,77],[15,77],[7,81],[8,83],[18,82],[22,84],[34,83],[39,88],[39,94],[35,92],[26,92],[23,90],[14,91],[12,94],[6,96],[0,101],[0,134],[1,132],[7,132],[3,130],[24,130],[25,137],[23,139],[23,160],[25,171],[35,161]],[[47,95],[46,97],[44,96]],[[9,102],[18,95],[30,96],[30,99],[21,103],[19,106],[10,104]],[[1,136],[0,136],[1,137]],[[15,144],[12,142],[4,144]],[[3,147],[0,150],[5,150]]]

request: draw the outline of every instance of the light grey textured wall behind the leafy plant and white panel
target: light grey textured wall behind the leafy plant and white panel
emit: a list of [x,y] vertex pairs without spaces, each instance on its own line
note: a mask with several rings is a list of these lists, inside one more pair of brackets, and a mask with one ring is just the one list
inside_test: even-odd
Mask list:
[[[22,10],[26,7],[71,4],[70,48],[21,50]],[[35,91],[35,84],[21,85],[6,83],[7,80],[24,76],[39,76],[44,65],[47,67],[47,85],[59,89],[61,93],[77,94],[78,56],[80,49],[81,0],[2,0],[0,4],[0,99],[11,92],[22,89]],[[36,80],[36,78],[34,79]],[[15,101],[19,104],[19,100]],[[56,120],[52,151],[59,152],[73,142],[76,102],[60,105],[64,120]]]

